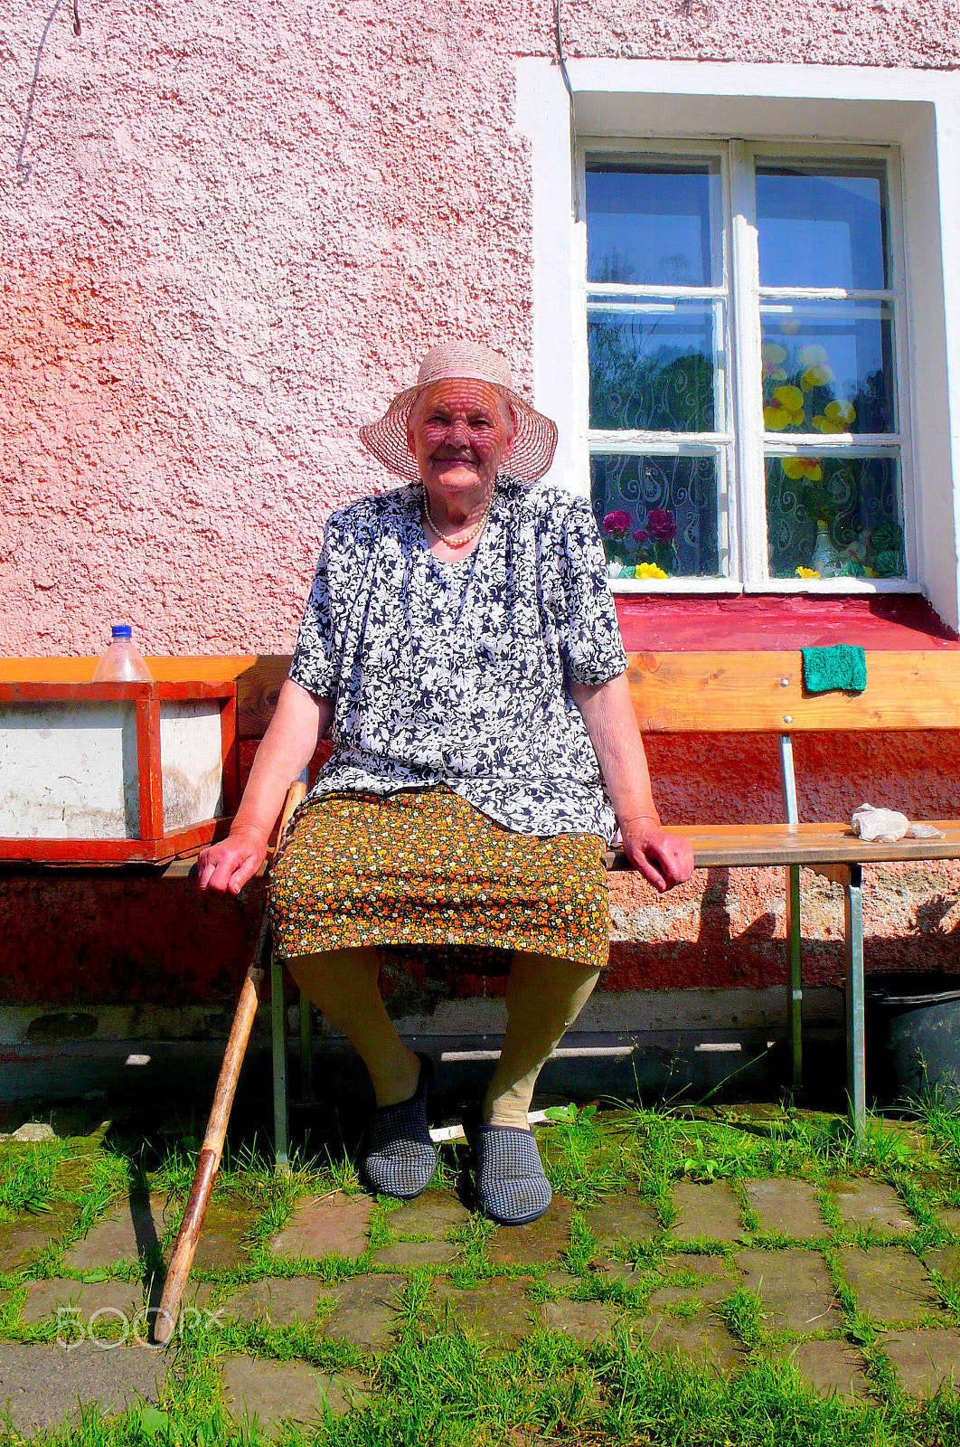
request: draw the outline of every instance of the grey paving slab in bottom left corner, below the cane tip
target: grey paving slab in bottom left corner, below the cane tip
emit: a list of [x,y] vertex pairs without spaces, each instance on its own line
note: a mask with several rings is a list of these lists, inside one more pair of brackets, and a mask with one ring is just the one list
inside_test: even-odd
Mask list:
[[80,1417],[81,1406],[100,1404],[104,1415],[134,1402],[156,1404],[166,1363],[162,1351],[143,1347],[104,1350],[82,1341],[71,1351],[58,1346],[0,1343],[0,1415],[10,1412],[20,1433],[59,1427]]

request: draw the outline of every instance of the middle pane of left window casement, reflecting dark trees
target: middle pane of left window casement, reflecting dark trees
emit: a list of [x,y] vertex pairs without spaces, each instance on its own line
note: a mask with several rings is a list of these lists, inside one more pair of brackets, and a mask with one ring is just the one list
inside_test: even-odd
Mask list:
[[714,431],[711,302],[591,300],[590,425]]

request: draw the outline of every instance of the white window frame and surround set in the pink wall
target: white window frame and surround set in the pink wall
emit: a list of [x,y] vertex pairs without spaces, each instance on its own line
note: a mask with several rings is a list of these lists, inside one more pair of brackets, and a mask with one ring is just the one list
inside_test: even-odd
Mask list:
[[[960,629],[960,276],[944,266],[960,237],[960,77],[867,67],[720,65],[713,62],[580,59],[568,62],[577,135],[590,149],[655,152],[671,140],[706,148],[739,137],[778,156],[879,148],[891,164],[891,232],[896,292],[896,368],[901,408],[901,488],[908,580],[756,579],[766,557],[763,495],[739,519],[740,577],[671,579],[643,592],[880,593],[921,587]],[[588,495],[586,346],[586,224],[574,214],[583,192],[570,146],[568,98],[548,59],[518,62],[518,122],[531,142],[533,250],[533,388],[561,425],[551,480]],[[577,155],[581,156],[583,145]],[[901,184],[896,184],[896,156]],[[750,201],[752,205],[752,201]],[[733,197],[733,249],[756,250],[746,197]],[[895,210],[896,208],[896,210]],[[902,239],[898,258],[896,239]],[[734,305],[742,288],[734,287]],[[755,326],[759,327],[759,310]],[[736,356],[737,410],[759,408],[759,336]],[[743,365],[746,363],[746,365]],[[736,457],[737,470],[762,476],[762,434],[740,428],[760,457]],[[759,470],[758,470],[759,463]],[[732,489],[736,491],[736,489]],[[745,489],[739,489],[745,496]],[[732,499],[733,501],[733,499]],[[758,499],[752,499],[758,502]],[[759,521],[758,521],[759,519]],[[616,586],[616,583],[614,583]]]

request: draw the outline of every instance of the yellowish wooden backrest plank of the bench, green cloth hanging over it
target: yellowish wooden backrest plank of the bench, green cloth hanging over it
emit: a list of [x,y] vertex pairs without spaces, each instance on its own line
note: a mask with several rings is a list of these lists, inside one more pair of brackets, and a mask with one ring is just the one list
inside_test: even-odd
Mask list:
[[[863,693],[804,693],[800,651],[632,653],[646,734],[802,734],[960,728],[960,650],[869,653]],[[85,682],[95,658],[0,658],[0,682]],[[158,680],[237,683],[237,732],[262,738],[289,654],[147,658]]]

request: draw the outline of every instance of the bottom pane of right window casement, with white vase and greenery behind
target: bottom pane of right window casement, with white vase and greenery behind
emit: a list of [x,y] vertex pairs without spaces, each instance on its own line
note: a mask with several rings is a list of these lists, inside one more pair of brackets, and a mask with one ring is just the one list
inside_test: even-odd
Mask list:
[[771,577],[904,577],[901,518],[893,457],[766,459]]

